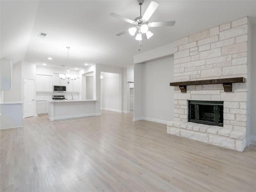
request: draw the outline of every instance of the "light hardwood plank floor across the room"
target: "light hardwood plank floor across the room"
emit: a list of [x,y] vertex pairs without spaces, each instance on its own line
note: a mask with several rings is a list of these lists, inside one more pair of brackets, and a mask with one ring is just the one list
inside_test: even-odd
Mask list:
[[255,192],[256,148],[244,152],[166,134],[133,114],[1,130],[1,192]]

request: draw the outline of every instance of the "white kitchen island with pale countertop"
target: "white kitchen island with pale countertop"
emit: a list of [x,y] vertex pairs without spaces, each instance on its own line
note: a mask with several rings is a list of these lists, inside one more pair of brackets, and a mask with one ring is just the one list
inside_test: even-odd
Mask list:
[[48,119],[97,116],[96,100],[48,100]]

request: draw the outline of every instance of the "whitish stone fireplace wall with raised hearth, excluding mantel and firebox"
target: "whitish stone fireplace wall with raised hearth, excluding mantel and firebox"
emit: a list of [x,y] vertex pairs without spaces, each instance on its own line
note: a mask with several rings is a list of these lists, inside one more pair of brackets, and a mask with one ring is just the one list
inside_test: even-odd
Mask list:
[[[176,40],[174,82],[218,78],[247,78],[248,18],[222,24]],[[174,88],[174,121],[167,133],[243,151],[246,143],[246,83],[233,83],[232,92],[222,84]],[[224,101],[224,126],[188,122],[188,100]]]

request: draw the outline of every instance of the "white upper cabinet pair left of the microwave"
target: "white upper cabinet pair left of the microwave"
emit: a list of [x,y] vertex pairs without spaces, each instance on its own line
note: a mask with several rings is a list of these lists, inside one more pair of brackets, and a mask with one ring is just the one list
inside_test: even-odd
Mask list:
[[36,75],[36,92],[53,92],[52,75]]

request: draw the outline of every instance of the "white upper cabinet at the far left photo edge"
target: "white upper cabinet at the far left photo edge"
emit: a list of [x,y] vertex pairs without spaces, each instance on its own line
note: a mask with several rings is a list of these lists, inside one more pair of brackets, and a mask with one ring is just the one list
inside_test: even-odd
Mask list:
[[1,90],[12,90],[12,61],[1,59],[0,62]]

